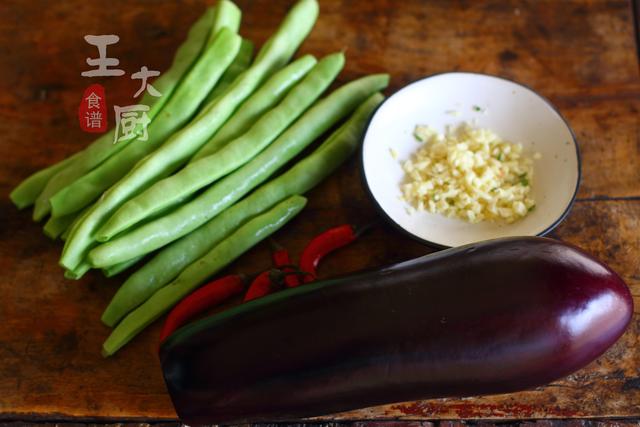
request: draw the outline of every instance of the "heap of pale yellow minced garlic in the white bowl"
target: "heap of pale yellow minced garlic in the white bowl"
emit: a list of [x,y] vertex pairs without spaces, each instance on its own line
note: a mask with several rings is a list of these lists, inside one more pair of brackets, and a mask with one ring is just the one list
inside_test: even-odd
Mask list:
[[414,209],[471,223],[511,223],[534,209],[533,159],[521,144],[466,124],[444,135],[416,126],[414,136],[424,145],[402,164],[403,199]]

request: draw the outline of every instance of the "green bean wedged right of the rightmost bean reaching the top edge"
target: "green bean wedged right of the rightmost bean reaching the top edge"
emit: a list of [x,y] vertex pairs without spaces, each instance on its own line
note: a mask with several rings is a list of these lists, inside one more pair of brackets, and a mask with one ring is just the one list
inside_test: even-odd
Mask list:
[[213,138],[200,148],[191,158],[190,163],[215,153],[229,141],[245,133],[260,116],[280,102],[289,90],[307,75],[316,62],[312,55],[305,55],[271,76],[238,108]]

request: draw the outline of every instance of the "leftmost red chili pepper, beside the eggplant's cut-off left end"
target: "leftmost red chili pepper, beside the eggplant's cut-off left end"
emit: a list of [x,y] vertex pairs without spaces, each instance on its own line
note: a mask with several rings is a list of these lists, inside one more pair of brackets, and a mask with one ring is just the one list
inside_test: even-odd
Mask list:
[[234,274],[214,280],[194,291],[171,310],[160,332],[160,342],[206,309],[241,293],[245,285],[245,277]]

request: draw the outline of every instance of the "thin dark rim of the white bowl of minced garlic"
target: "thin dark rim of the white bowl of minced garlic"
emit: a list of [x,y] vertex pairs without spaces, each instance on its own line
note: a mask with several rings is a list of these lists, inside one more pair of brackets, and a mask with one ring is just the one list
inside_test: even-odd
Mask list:
[[491,78],[494,78],[494,79],[503,80],[503,81],[506,81],[506,82],[509,82],[509,83],[513,83],[515,85],[518,85],[518,86],[521,86],[521,87],[523,87],[525,89],[528,89],[531,92],[533,92],[534,94],[536,94],[537,96],[539,96],[540,99],[543,102],[545,102],[551,108],[551,110],[553,110],[558,115],[558,117],[560,117],[560,119],[564,122],[565,126],[569,130],[569,133],[571,134],[571,141],[573,142],[573,146],[574,146],[574,148],[576,150],[576,161],[577,161],[576,162],[576,166],[578,168],[578,173],[577,173],[577,176],[576,176],[576,183],[575,183],[575,187],[574,187],[574,190],[573,190],[573,194],[571,195],[569,203],[567,203],[567,206],[565,207],[564,211],[547,228],[542,230],[540,233],[536,234],[536,236],[538,236],[538,237],[546,236],[551,231],[553,231],[558,225],[560,225],[560,223],[562,221],[564,221],[564,219],[567,217],[567,215],[569,215],[569,212],[571,211],[571,208],[573,207],[573,205],[574,205],[574,203],[576,201],[576,196],[578,195],[578,190],[579,190],[580,184],[582,182],[582,157],[580,155],[580,147],[578,145],[578,139],[576,138],[576,135],[575,135],[573,129],[569,125],[569,122],[562,115],[562,113],[560,113],[560,111],[551,103],[551,101],[546,96],[540,94],[537,90],[533,89],[531,86],[529,86],[527,84],[524,84],[524,83],[517,82],[515,80],[509,79],[509,78],[506,78],[506,77],[501,77],[501,76],[496,76],[496,75],[486,74],[486,73],[480,73],[480,72],[474,72],[474,71],[443,71],[443,72],[429,74],[429,75],[424,76],[424,77],[420,77],[420,78],[412,80],[409,83],[407,83],[406,85],[400,87],[394,93],[392,93],[391,95],[386,97],[384,99],[384,101],[382,101],[380,103],[380,105],[378,105],[378,107],[376,107],[375,111],[371,114],[371,117],[369,117],[369,120],[367,121],[367,126],[365,127],[365,131],[363,132],[362,136],[360,137],[360,148],[359,148],[359,153],[358,153],[359,164],[360,164],[359,165],[359,168],[360,168],[360,179],[362,181],[362,186],[364,187],[365,192],[369,196],[369,199],[371,199],[373,201],[375,209],[385,219],[385,221],[387,223],[391,224],[391,226],[393,228],[395,228],[396,230],[400,231],[401,233],[407,235],[408,237],[410,237],[411,239],[413,239],[413,240],[415,240],[417,242],[420,242],[420,243],[422,243],[424,245],[430,246],[430,247],[435,248],[435,249],[448,249],[448,248],[452,247],[452,246],[442,245],[440,243],[436,243],[436,242],[433,242],[431,240],[423,239],[422,237],[419,237],[419,236],[415,235],[414,233],[410,232],[409,230],[404,228],[402,225],[398,224],[393,218],[391,218],[385,212],[385,210],[382,208],[382,205],[380,204],[380,202],[378,202],[378,199],[376,199],[376,197],[373,195],[373,192],[371,191],[371,186],[369,185],[369,182],[367,180],[367,175],[366,175],[365,170],[364,170],[364,141],[365,141],[365,138],[366,138],[367,133],[369,131],[369,128],[371,127],[371,122],[375,118],[376,113],[378,112],[378,110],[387,101],[389,101],[396,93],[400,92],[401,90],[404,90],[404,89],[406,89],[406,88],[408,88],[408,87],[410,87],[410,86],[412,86],[412,85],[414,85],[416,83],[419,83],[419,82],[421,82],[423,80],[428,80],[428,79],[431,79],[433,77],[438,77],[438,76],[442,76],[442,75],[446,75],[446,74],[470,74],[470,75],[477,75],[477,76],[483,76],[483,77],[491,77]]

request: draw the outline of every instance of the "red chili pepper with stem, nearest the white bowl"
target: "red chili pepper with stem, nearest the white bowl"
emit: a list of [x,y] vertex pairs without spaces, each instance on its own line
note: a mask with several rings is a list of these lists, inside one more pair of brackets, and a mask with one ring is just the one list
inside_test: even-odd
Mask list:
[[304,271],[304,283],[316,280],[318,264],[326,255],[356,240],[374,223],[356,230],[352,225],[345,224],[330,228],[314,237],[302,251],[300,269]]

